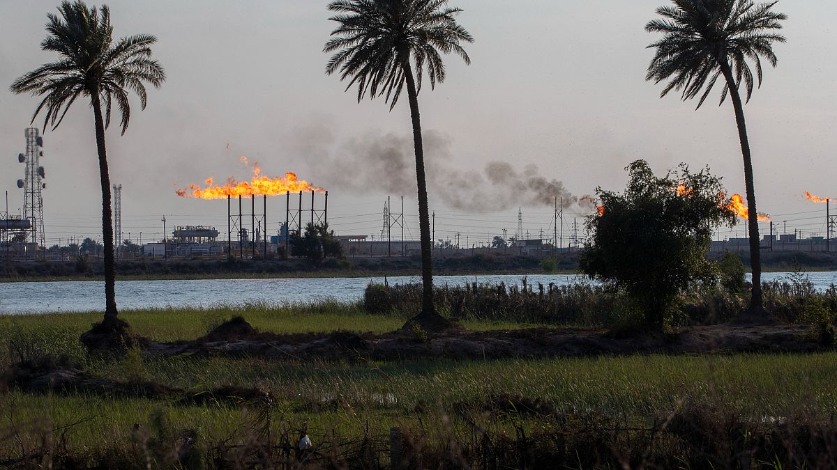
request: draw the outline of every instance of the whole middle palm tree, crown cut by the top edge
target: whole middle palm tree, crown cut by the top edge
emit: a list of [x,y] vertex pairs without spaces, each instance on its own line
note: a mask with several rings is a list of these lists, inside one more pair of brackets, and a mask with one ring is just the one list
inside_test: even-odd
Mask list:
[[447,0],[336,0],[328,9],[336,12],[329,18],[339,23],[331,32],[323,51],[335,52],[326,66],[326,74],[340,71],[341,80],[349,80],[346,89],[357,84],[357,101],[384,96],[393,110],[403,85],[407,84],[410,115],[413,119],[413,146],[416,156],[416,180],[419,186],[419,230],[421,232],[422,310],[414,319],[426,327],[447,324],[436,314],[433,303],[433,242],[430,240],[430,216],[427,185],[424,178],[424,149],[419,119],[419,91],[424,69],[430,88],[444,81],[441,54],[459,54],[470,64],[460,43],[474,42],[470,33],[454,18],[460,8],[449,8]]

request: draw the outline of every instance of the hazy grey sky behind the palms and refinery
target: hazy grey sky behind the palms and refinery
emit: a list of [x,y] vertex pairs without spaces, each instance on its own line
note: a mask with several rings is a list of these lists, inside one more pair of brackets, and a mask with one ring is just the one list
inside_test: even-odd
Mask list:
[[[516,228],[518,205],[534,236],[550,227],[552,211],[526,194],[492,186],[489,162],[507,162],[520,174],[527,165],[548,181],[562,181],[575,196],[596,186],[624,188],[624,166],[644,158],[655,171],[679,162],[711,166],[731,192],[742,192],[742,158],[732,105],[704,108],[676,95],[660,100],[662,85],[644,81],[652,56],[644,32],[665,0],[455,0],[458,18],[475,37],[472,64],[446,59],[448,79],[419,95],[427,158],[437,186],[436,238],[453,232],[486,238]],[[2,89],[54,55],[39,49],[46,13],[56,0],[0,0]],[[409,234],[418,238],[413,187],[380,176],[387,165],[410,162],[406,97],[388,111],[383,100],[357,103],[334,76],[321,52],[334,24],[327,2],[311,0],[113,0],[116,36],[157,36],[155,58],[166,68],[162,89],[151,89],[148,108],[132,102],[124,136],[107,134],[110,176],[124,187],[122,230],[143,241],[171,224],[226,226],[226,203],[187,200],[174,190],[208,176],[248,179],[239,156],[258,161],[264,174],[296,171],[331,190],[332,227],[344,234],[380,231],[388,194],[407,197]],[[824,231],[824,207],[804,202],[811,191],[837,197],[837,3],[783,0],[788,13],[775,48],[779,64],[767,69],[762,89],[746,107],[759,210],[788,229]],[[0,90],[0,191],[10,212],[23,195],[17,155],[37,100]],[[44,135],[42,164],[48,244],[72,235],[100,237],[100,185],[92,113],[79,101],[59,129]],[[229,149],[228,149],[229,145]],[[402,152],[399,160],[398,152]],[[394,155],[394,157],[393,157]],[[383,165],[383,164],[382,164]],[[369,166],[375,171],[360,171]],[[410,176],[413,168],[407,168]],[[534,171],[529,167],[528,171]],[[347,181],[355,178],[357,181]],[[414,184],[414,183],[413,183]],[[462,186],[464,189],[455,190]],[[400,190],[400,191],[399,191]],[[444,196],[439,196],[444,194]],[[284,197],[270,199],[269,218],[284,219]],[[465,210],[457,210],[457,204]],[[475,206],[481,211],[475,212]],[[810,211],[822,211],[808,213]],[[837,210],[837,208],[835,208]],[[567,221],[578,207],[567,209]],[[814,218],[812,218],[814,217]],[[271,223],[270,230],[277,226]],[[567,229],[565,229],[567,230]],[[738,227],[739,231],[743,226]],[[764,229],[763,229],[764,230]],[[225,230],[222,230],[225,232]]]

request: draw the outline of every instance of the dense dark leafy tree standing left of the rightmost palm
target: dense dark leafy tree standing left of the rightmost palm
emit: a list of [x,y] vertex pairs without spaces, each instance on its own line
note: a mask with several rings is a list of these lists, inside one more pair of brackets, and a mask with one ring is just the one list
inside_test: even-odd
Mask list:
[[706,168],[691,173],[681,165],[663,177],[645,161],[627,168],[622,194],[597,188],[601,215],[588,217],[590,233],[579,259],[584,273],[624,289],[661,330],[680,292],[696,281],[711,281],[716,270],[706,258],[714,227],[735,222],[721,179]]

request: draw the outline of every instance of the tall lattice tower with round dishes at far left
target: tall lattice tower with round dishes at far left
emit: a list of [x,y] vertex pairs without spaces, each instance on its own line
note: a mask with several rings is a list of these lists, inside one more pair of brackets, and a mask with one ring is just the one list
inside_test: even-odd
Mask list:
[[46,237],[44,235],[44,196],[43,190],[47,186],[44,183],[44,167],[41,166],[41,157],[44,156],[44,139],[40,136],[38,128],[31,127],[25,131],[26,154],[19,154],[18,161],[26,164],[23,180],[18,180],[18,187],[23,188],[23,218],[31,222],[32,227],[26,239],[26,243],[34,245],[34,252],[38,253],[40,248],[46,248]]

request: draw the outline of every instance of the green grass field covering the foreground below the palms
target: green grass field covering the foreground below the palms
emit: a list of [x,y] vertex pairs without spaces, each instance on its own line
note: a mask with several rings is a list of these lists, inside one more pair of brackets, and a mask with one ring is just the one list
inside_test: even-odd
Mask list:
[[[233,314],[244,315],[259,330],[277,333],[385,332],[404,321],[398,316],[364,314],[359,304],[253,304],[126,311],[122,316],[136,333],[151,339],[193,340]],[[444,449],[451,435],[465,448],[475,429],[480,429],[496,439],[492,448],[500,448],[504,436],[518,442],[521,432],[530,437],[557,432],[559,427],[583,432],[584,423],[595,420],[603,430],[612,429],[614,422],[625,428],[654,428],[666,416],[696,404],[707,413],[761,423],[837,412],[835,353],[323,362],[149,358],[135,352],[122,359],[102,359],[87,357],[78,341],[80,333],[99,318],[96,313],[0,318],[0,363],[6,368],[38,355],[69,355],[84,370],[116,381],[153,381],[187,390],[256,388],[270,392],[266,408],[270,418],[252,403],[194,405],[182,403],[179,396],[151,400],[88,393],[44,395],[13,387],[0,396],[0,457],[16,458],[43,448],[44,436],[49,436],[54,446],[63,439],[69,454],[88,463],[107,458],[135,462],[145,455],[156,459],[152,467],[165,467],[171,456],[166,457],[168,447],[160,442],[166,439],[181,442],[180,436],[186,434],[199,437],[206,463],[218,442],[244,447],[264,439],[264,427],[273,439],[290,442],[305,429],[315,445],[326,447],[335,436],[346,437],[347,442],[362,436],[386,442],[389,429],[399,427],[413,430],[422,436],[424,446],[436,449]],[[525,325],[471,322],[465,326]],[[589,421],[591,416],[598,417]],[[665,448],[663,443],[657,447]]]

